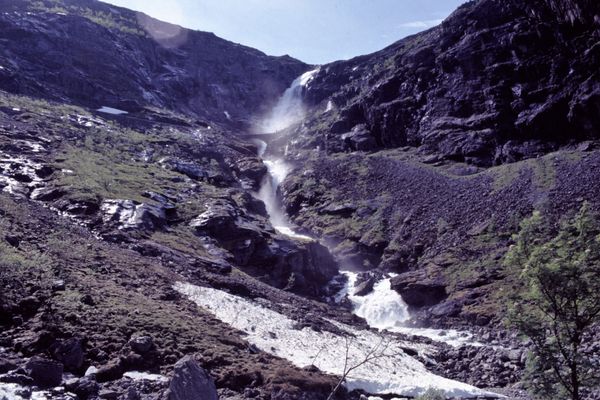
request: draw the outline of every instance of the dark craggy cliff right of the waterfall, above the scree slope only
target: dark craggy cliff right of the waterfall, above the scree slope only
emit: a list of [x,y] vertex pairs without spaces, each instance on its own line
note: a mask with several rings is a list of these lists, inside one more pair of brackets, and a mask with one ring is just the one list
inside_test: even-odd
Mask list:
[[333,152],[412,146],[479,166],[597,138],[599,8],[469,2],[427,32],[324,66],[307,91],[319,105],[309,130]]

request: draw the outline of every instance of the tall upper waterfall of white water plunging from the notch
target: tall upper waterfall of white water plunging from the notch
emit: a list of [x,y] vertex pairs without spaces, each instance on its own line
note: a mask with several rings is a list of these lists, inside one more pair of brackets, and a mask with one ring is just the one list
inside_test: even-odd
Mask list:
[[[302,92],[317,72],[318,69],[305,72],[292,82],[290,87],[279,98],[271,112],[258,124],[258,130],[261,133],[274,135],[302,121],[306,115],[306,108],[302,101]],[[301,235],[294,231],[277,196],[277,189],[291,171],[291,165],[283,158],[267,154],[267,143],[265,141],[255,139],[254,142],[258,147],[258,156],[263,159],[268,170],[268,174],[264,178],[258,192],[255,193],[255,196],[265,203],[271,224],[279,233],[284,235],[296,239],[313,240],[309,236]]]

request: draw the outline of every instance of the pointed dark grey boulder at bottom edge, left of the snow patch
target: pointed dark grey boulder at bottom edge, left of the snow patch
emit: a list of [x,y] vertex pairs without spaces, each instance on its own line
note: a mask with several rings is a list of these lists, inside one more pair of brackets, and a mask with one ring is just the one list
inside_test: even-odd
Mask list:
[[217,400],[214,380],[191,356],[175,364],[168,400]]

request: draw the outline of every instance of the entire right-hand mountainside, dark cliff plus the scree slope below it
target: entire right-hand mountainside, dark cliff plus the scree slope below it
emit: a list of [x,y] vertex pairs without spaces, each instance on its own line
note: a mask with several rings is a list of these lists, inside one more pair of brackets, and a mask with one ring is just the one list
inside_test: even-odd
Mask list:
[[598,15],[592,1],[471,1],[322,66],[311,114],[281,139],[302,165],[287,211],[343,267],[399,273],[428,323],[499,322],[518,221],[597,205]]

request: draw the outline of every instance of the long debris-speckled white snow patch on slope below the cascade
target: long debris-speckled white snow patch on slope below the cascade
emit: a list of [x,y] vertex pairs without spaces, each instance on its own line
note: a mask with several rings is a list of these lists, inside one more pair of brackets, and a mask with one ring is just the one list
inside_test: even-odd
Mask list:
[[221,321],[245,332],[248,342],[298,367],[315,365],[326,373],[341,375],[346,352],[349,365],[357,365],[370,352],[378,355],[347,376],[349,390],[417,396],[431,387],[445,391],[449,397],[501,397],[437,376],[403,350],[412,348],[427,356],[431,349],[426,345],[403,342],[394,336],[357,330],[333,321],[344,335],[317,332],[308,327],[297,329],[296,323],[285,315],[221,290],[181,282],[174,288]]

